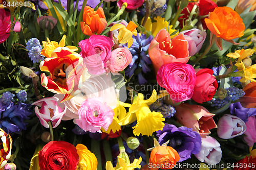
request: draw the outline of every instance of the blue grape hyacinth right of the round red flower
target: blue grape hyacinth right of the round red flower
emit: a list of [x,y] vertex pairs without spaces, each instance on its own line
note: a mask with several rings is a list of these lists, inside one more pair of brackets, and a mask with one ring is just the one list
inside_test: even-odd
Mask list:
[[212,107],[217,107],[217,109],[222,108],[223,106],[225,106],[226,104],[228,104],[229,102],[234,102],[236,100],[238,100],[239,98],[241,98],[243,95],[245,95],[245,92],[238,88],[238,87],[229,87],[229,88],[225,88],[225,90],[227,90],[227,96],[224,99],[212,99],[210,102],[212,102],[211,106]]

